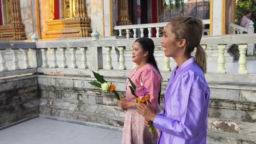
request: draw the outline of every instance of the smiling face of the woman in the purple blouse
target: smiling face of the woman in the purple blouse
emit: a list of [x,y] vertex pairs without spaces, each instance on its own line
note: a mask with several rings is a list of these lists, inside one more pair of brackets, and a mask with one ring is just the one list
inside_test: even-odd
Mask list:
[[166,57],[175,57],[181,51],[179,41],[176,40],[176,35],[171,32],[172,25],[168,23],[164,29],[164,34],[161,40],[162,47]]

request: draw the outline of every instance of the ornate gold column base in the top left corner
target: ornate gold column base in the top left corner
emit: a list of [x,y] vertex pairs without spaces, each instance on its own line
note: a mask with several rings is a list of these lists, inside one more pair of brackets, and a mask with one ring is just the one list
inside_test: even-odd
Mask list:
[[26,39],[25,27],[21,21],[20,0],[7,0],[5,5],[7,22],[10,23],[0,26],[0,41]]

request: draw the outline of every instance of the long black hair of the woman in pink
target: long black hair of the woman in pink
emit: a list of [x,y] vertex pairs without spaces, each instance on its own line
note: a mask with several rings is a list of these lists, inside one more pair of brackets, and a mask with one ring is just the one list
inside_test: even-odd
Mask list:
[[[156,64],[155,57],[154,57],[154,51],[155,51],[154,41],[150,38],[138,38],[135,40],[134,43],[136,43],[136,42],[138,42],[139,45],[141,45],[143,51],[148,51],[147,63],[153,65],[153,67],[156,70],[158,70],[158,73],[160,74],[160,71],[158,69],[158,64]],[[160,104],[161,83],[160,83],[160,90],[159,90],[159,94],[158,94],[158,104]]]

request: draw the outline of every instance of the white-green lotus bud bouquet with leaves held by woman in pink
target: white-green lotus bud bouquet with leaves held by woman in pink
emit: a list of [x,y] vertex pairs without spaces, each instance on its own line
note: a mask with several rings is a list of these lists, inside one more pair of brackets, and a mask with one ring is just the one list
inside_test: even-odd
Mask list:
[[[94,85],[96,87],[99,87],[100,89],[102,89],[102,92],[113,92],[115,95],[115,98],[117,100],[121,100],[119,94],[115,91],[115,85],[113,85],[112,83],[107,82],[106,80],[104,80],[103,76],[101,76],[98,73],[95,73],[94,71],[92,71],[92,73],[94,73],[94,77],[100,82],[95,82],[95,81],[91,81],[89,82],[91,85]],[[126,109],[123,109],[126,110]]]

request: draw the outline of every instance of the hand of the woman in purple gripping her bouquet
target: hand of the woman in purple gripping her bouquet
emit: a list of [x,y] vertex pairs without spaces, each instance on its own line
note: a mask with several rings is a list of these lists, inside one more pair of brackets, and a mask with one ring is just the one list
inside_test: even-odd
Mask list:
[[154,121],[155,116],[157,115],[153,105],[148,101],[148,105],[143,104],[143,103],[138,103],[137,104],[137,112],[141,114],[145,118],[145,123],[149,121]]

